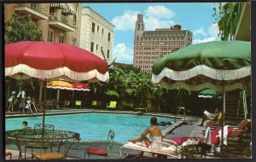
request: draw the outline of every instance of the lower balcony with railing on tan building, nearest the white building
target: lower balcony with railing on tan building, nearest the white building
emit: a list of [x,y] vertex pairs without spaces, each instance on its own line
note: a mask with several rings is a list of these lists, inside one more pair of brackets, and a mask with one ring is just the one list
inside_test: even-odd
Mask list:
[[70,20],[65,15],[57,15],[55,13],[49,14],[49,25],[55,26],[66,32],[74,32],[75,31],[75,22],[74,20]]

